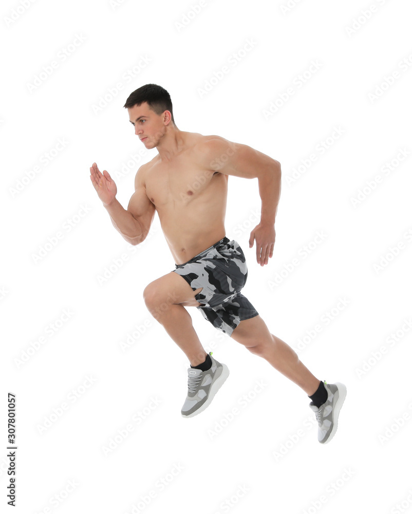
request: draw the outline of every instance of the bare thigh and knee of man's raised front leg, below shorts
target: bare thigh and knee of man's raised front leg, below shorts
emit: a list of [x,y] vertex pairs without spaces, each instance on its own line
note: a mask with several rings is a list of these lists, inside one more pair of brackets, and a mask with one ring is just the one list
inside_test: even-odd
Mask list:
[[171,271],[149,283],[143,290],[143,298],[146,303],[167,302],[184,307],[199,307],[203,304],[196,300],[195,295],[202,289],[199,287],[193,290],[182,276]]

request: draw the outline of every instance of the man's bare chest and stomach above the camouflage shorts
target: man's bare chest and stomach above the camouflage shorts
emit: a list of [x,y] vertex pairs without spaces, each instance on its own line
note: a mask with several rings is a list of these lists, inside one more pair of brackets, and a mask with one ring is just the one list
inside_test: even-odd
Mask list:
[[186,133],[188,148],[171,161],[157,155],[145,170],[146,195],[154,204],[176,264],[183,264],[225,235],[228,175],[202,170],[197,142],[213,136]]

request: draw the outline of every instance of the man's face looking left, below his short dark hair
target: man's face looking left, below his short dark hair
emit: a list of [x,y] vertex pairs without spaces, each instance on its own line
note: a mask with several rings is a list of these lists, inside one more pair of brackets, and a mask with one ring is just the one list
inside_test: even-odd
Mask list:
[[146,148],[155,148],[166,133],[163,115],[157,115],[147,102],[128,107],[129,121],[135,126],[135,134]]

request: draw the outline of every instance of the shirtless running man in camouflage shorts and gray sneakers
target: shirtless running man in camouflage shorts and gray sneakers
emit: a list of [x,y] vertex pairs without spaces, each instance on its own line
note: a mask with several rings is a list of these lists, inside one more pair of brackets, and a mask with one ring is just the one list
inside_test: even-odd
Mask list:
[[250,234],[249,247],[256,241],[257,263],[268,264],[275,243],[279,162],[219,136],[180,131],[170,95],[156,84],[133,91],[124,107],[142,144],[158,154],[137,171],[127,210],[116,199],[116,184],[106,170],[102,174],[93,163],[90,179],[113,225],[132,245],[145,240],[158,212],[176,269],[149,283],[143,298],[190,361],[182,416],[208,407],[229,375],[226,364],[202,347],[184,308],[193,306],[215,328],[264,357],[306,392],[318,421],[318,440],[328,443],[338,426],[346,388],[314,377],[292,348],[269,332],[240,292],[248,276],[245,254],[224,228],[229,175],[257,178],[261,219]]

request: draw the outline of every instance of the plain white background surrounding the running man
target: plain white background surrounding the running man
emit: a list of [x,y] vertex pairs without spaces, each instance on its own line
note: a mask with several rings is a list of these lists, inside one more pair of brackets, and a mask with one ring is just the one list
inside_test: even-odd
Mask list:
[[[26,4],[2,3],[2,511],[8,392],[14,512],[412,511],[402,470],[412,427],[407,0]],[[138,167],[157,153],[123,108],[146,83],[171,94],[180,130],[282,164],[269,264],[248,245],[257,179],[230,177],[227,235],[245,251],[243,292],[270,331],[294,348],[304,341],[299,357],[317,378],[346,384],[330,444],[317,442],[305,392],[193,307],[205,349],[230,376],[207,410],[181,417],[189,363],[142,297],[175,268],[158,216],[146,241],[129,245],[89,178],[96,161],[127,206]]]

